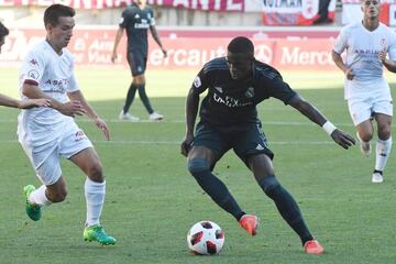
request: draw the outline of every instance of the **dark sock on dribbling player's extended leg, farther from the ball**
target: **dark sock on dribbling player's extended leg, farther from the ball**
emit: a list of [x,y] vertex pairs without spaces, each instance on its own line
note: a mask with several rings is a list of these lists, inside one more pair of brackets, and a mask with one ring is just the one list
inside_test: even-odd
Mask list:
[[258,185],[262,187],[264,193],[274,200],[280,216],[298,234],[302,242],[302,245],[307,241],[312,240],[314,238],[304,221],[297,202],[295,201],[293,196],[285,188],[282,187],[275,176],[263,177],[258,182]]

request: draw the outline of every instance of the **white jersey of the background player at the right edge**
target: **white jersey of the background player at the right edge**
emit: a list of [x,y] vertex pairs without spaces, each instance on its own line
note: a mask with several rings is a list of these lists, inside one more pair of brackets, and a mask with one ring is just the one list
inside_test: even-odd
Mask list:
[[385,50],[389,59],[396,61],[396,34],[382,23],[375,31],[366,30],[362,22],[352,23],[341,30],[333,48],[338,54],[345,50],[345,65],[354,74],[352,80],[345,79],[345,99],[373,92],[388,94],[391,98],[378,53]]

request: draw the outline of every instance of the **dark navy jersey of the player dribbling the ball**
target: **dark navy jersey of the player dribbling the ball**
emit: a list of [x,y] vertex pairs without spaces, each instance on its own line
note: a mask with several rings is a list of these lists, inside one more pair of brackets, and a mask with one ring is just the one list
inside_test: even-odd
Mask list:
[[254,62],[251,78],[232,79],[226,57],[207,63],[193,87],[198,92],[208,89],[199,114],[215,125],[258,122],[256,105],[261,101],[274,97],[287,105],[296,96],[275,68],[258,61]]

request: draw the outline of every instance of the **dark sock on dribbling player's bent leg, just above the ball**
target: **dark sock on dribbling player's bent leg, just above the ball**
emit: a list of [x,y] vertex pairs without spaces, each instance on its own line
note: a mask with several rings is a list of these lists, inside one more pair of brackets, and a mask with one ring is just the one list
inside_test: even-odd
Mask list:
[[188,169],[196,178],[199,186],[219,207],[231,213],[237,220],[245,215],[228,190],[227,186],[210,172],[209,166],[204,158],[193,158],[189,161]]

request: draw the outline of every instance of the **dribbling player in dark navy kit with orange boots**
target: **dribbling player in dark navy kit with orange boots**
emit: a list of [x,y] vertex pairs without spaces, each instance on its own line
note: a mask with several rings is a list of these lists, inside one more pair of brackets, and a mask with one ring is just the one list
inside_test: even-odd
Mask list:
[[[200,106],[200,122],[194,133],[199,95],[208,89]],[[248,215],[211,170],[220,157],[233,148],[253,173],[257,184],[272,200],[280,216],[299,235],[308,254],[324,249],[308,230],[293,196],[274,174],[274,154],[267,146],[257,119],[256,105],[274,97],[297,109],[322,129],[343,148],[354,139],[337,129],[323,114],[283,81],[280,74],[254,58],[253,43],[243,36],[233,38],[226,57],[207,63],[195,78],[186,102],[186,135],[182,154],[187,156],[188,170],[200,187],[223,210],[231,213],[251,235],[256,234],[258,218]]]

